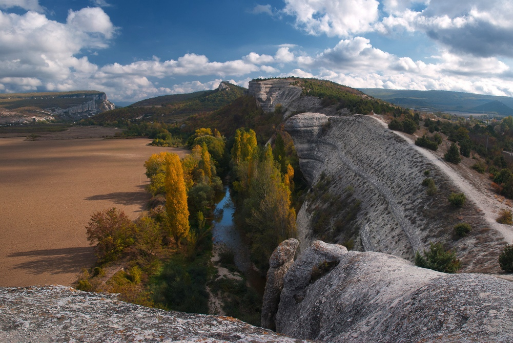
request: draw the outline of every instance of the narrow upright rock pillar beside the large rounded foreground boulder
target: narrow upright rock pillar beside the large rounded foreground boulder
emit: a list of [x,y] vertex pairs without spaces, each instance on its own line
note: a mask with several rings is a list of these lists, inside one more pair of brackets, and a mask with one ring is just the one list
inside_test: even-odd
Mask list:
[[274,319],[278,312],[280,294],[283,289],[283,279],[294,262],[295,251],[299,241],[294,238],[284,240],[274,249],[269,258],[269,270],[262,304],[261,325],[266,329],[275,329]]

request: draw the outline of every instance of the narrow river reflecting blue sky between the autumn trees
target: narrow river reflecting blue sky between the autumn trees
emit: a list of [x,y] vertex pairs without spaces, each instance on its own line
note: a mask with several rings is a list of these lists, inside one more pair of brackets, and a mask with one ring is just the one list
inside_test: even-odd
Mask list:
[[214,245],[225,245],[233,251],[235,266],[244,274],[249,285],[259,294],[264,294],[265,278],[251,265],[249,259],[249,248],[246,245],[243,235],[237,230],[233,223],[235,208],[231,202],[230,191],[226,188],[225,196],[215,207],[215,213],[222,213],[220,219],[212,223],[212,236]]

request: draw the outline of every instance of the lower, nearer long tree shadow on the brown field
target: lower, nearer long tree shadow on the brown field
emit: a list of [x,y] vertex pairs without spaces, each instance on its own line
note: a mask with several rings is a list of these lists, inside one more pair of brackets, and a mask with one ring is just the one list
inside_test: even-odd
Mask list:
[[23,258],[24,261],[13,268],[24,269],[30,274],[78,273],[95,261],[93,247],[22,251],[7,257]]

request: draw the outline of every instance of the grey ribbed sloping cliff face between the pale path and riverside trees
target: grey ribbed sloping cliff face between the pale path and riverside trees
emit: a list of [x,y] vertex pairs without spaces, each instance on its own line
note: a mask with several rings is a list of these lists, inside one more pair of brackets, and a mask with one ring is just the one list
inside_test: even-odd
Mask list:
[[[412,260],[429,242],[441,241],[462,259],[463,271],[499,271],[502,236],[470,201],[451,207],[448,195],[458,187],[377,120],[304,113],[289,118],[285,128],[312,185],[298,212],[302,250],[319,238]],[[427,171],[436,194],[422,185]],[[452,227],[461,222],[472,231],[456,239]]]

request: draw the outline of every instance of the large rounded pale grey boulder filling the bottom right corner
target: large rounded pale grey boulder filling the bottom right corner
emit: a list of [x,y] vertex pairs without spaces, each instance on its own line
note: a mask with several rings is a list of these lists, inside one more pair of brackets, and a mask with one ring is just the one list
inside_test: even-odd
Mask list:
[[513,283],[315,241],[285,276],[277,332],[330,342],[513,340]]

